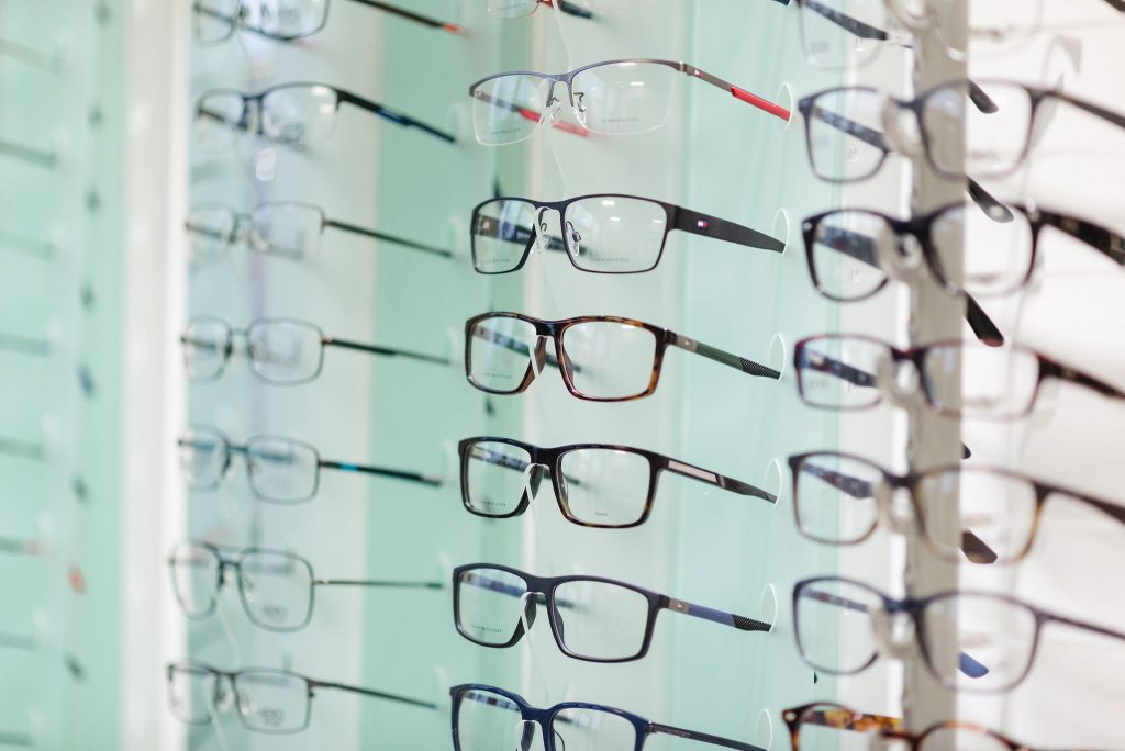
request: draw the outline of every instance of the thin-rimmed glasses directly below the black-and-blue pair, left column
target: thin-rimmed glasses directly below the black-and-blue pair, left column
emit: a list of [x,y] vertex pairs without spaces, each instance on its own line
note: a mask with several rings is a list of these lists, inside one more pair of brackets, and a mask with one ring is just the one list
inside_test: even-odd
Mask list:
[[250,214],[222,203],[200,203],[188,212],[184,228],[191,235],[191,259],[200,263],[220,261],[235,245],[263,255],[304,261],[321,250],[325,229],[340,229],[447,259],[453,255],[447,248],[330,219],[321,207],[294,201],[260,203]]

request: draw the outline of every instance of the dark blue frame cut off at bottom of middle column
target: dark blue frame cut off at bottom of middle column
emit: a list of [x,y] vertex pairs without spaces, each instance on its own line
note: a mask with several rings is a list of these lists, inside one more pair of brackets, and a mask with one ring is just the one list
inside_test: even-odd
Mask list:
[[451,699],[451,711],[450,716],[452,720],[453,727],[453,751],[461,751],[461,739],[460,739],[460,727],[458,726],[458,720],[460,717],[461,703],[466,700],[466,694],[469,691],[479,691],[487,694],[495,694],[511,702],[514,706],[512,707],[501,707],[503,709],[518,709],[520,712],[521,721],[523,723],[534,722],[539,725],[540,731],[543,734],[543,747],[546,751],[566,751],[566,749],[558,749],[555,743],[555,735],[551,733],[551,727],[560,712],[566,709],[588,709],[592,712],[600,712],[604,714],[614,715],[621,720],[628,721],[633,730],[637,731],[637,744],[633,747],[633,751],[641,751],[645,747],[645,741],[649,735],[665,734],[672,735],[674,738],[682,738],[688,741],[700,741],[702,743],[708,743],[711,745],[721,745],[726,749],[735,749],[736,751],[765,751],[756,745],[750,745],[749,743],[742,743],[741,741],[732,741],[730,739],[719,738],[717,735],[709,735],[708,733],[700,733],[693,730],[685,730],[683,727],[673,727],[672,725],[663,725],[660,723],[655,723],[650,720],[646,720],[640,715],[636,715],[631,712],[626,712],[624,709],[619,709],[616,707],[605,706],[603,704],[590,704],[586,702],[560,702],[550,707],[539,708],[531,706],[526,699],[524,699],[519,694],[514,691],[508,691],[503,688],[497,688],[496,686],[488,686],[486,684],[460,684],[459,686],[453,686],[449,689],[449,695]]

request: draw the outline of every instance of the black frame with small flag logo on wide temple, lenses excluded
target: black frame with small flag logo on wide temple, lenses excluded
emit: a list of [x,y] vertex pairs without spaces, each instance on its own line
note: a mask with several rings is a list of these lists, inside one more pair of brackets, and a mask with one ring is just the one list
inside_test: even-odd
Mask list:
[[[652,261],[652,265],[647,269],[637,269],[636,271],[598,271],[595,269],[587,269],[585,266],[578,265],[575,260],[574,254],[570,252],[570,245],[566,241],[567,229],[566,225],[569,224],[566,219],[567,209],[578,201],[588,200],[593,198],[622,198],[632,201],[645,201],[646,203],[654,203],[664,209],[665,212],[665,225],[664,225],[664,236],[660,239],[660,251],[656,254],[656,260]],[[542,218],[542,211],[551,210],[559,215],[560,224],[562,225],[564,238],[559,241],[556,237],[549,237],[542,233],[542,227],[537,226],[530,229],[525,227],[519,227],[520,230],[528,232],[528,242],[523,248],[523,256],[520,262],[512,266],[511,269],[505,269],[504,271],[483,271],[477,264],[477,237],[482,236],[478,232],[478,223],[480,220],[480,211],[492,203],[498,203],[501,201],[513,201],[520,203],[528,203],[534,207],[539,219]],[[700,235],[702,237],[712,237],[714,239],[721,239],[728,243],[734,243],[736,245],[744,245],[746,247],[756,247],[764,251],[772,251],[774,253],[784,253],[785,243],[782,241],[771,237],[765,233],[758,232],[757,229],[752,229],[742,225],[729,221],[727,219],[720,219],[719,217],[710,216],[708,214],[702,214],[700,211],[693,211],[692,209],[684,208],[682,206],[676,206],[675,203],[668,203],[666,201],[660,201],[655,198],[645,198],[644,196],[630,196],[628,193],[591,193],[588,196],[575,196],[574,198],[567,198],[560,201],[539,201],[532,198],[521,198],[518,196],[500,196],[496,198],[489,198],[486,201],[477,203],[472,208],[472,217],[469,224],[469,246],[472,253],[472,270],[479,274],[487,275],[498,275],[514,273],[523,269],[523,264],[528,262],[528,256],[531,254],[531,248],[534,247],[536,241],[542,238],[541,242],[546,243],[547,250],[559,250],[566,251],[567,259],[570,260],[570,265],[573,265],[578,271],[594,274],[638,274],[652,271],[660,264],[660,260],[664,257],[664,250],[668,243],[668,235],[673,232],[686,232],[693,235]],[[497,237],[505,242],[519,242],[520,235],[512,238]]]

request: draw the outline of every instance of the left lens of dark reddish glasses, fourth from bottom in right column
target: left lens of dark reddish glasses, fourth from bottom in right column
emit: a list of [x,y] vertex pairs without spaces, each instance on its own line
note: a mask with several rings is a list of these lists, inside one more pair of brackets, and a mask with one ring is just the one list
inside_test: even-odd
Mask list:
[[806,340],[796,362],[801,398],[814,407],[874,407],[882,400],[880,368],[890,356],[885,344],[862,337]]

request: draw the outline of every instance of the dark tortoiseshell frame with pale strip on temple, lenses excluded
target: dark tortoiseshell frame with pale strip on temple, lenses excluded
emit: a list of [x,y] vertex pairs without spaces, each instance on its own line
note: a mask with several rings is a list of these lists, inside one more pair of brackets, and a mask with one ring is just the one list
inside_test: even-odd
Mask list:
[[[704,482],[706,485],[728,490],[730,492],[740,496],[753,496],[755,498],[760,498],[770,504],[776,504],[777,497],[771,492],[766,492],[760,488],[756,488],[748,482],[742,482],[741,480],[736,480],[734,478],[724,477],[718,472],[712,472],[711,470],[705,470],[700,467],[694,467],[687,462],[682,462],[677,459],[672,459],[670,456],[665,456],[664,454],[657,453],[655,451],[648,451],[646,449],[634,449],[632,446],[622,446],[610,443],[572,443],[562,446],[554,446],[550,449],[540,447],[531,443],[524,443],[523,441],[516,441],[515,438],[505,438],[500,436],[488,436],[479,435],[470,438],[464,438],[457,444],[457,453],[460,456],[461,463],[461,503],[465,509],[472,514],[474,516],[480,516],[483,518],[492,519],[508,519],[516,516],[521,516],[531,505],[531,499],[528,498],[526,489],[523,490],[520,498],[519,506],[505,514],[486,514],[474,508],[470,501],[469,491],[469,462],[475,459],[470,456],[470,452],[474,446],[480,443],[503,443],[510,446],[515,446],[528,453],[531,458],[530,462],[523,462],[523,460],[518,460],[524,463],[524,467],[513,467],[507,463],[515,458],[505,456],[506,461],[493,461],[484,460],[490,464],[500,464],[507,469],[519,470],[521,472],[528,471],[529,468],[540,468],[544,470],[550,477],[551,487],[555,490],[555,499],[558,501],[559,510],[562,516],[572,524],[577,524],[578,526],[590,527],[595,530],[628,530],[631,527],[640,526],[646,521],[648,521],[649,515],[652,512],[652,503],[656,499],[657,486],[659,485],[660,474],[665,471],[680,474],[682,477],[696,480],[699,482]],[[569,504],[562,498],[564,491],[561,489],[561,483],[559,477],[564,474],[562,472],[562,458],[572,452],[584,451],[584,450],[598,450],[598,451],[616,451],[622,453],[634,454],[638,456],[644,456],[648,461],[649,478],[648,478],[648,497],[645,499],[645,509],[641,512],[641,516],[636,522],[629,524],[595,524],[592,522],[584,522],[576,517],[572,512]],[[539,489],[539,483],[542,480],[542,474],[539,472],[532,472],[530,482],[531,491],[534,495]],[[574,485],[575,480],[568,479],[569,483]]]

